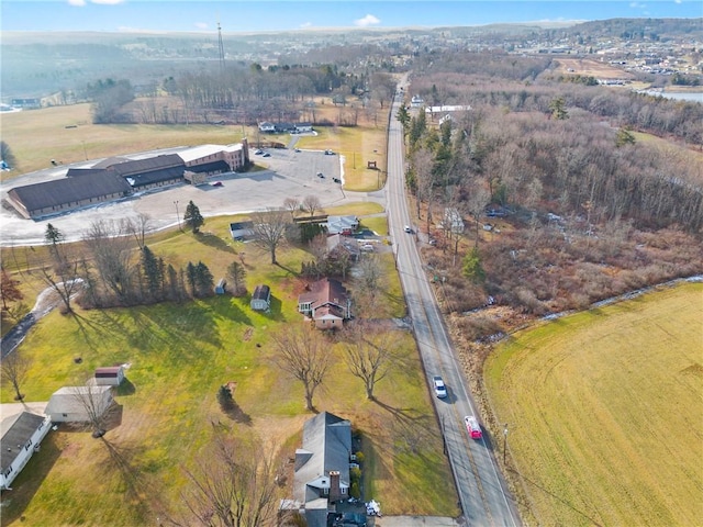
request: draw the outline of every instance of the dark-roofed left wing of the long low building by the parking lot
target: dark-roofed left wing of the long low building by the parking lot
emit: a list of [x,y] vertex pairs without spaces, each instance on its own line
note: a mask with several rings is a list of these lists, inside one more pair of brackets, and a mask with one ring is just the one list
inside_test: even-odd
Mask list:
[[24,217],[33,218],[118,200],[132,192],[127,182],[112,170],[91,172],[15,187],[8,192],[8,202]]

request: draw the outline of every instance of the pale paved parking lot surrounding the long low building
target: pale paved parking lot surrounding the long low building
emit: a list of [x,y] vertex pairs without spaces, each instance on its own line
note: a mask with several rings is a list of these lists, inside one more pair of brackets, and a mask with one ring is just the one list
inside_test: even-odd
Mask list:
[[[177,153],[178,148],[158,154]],[[198,205],[205,218],[213,215],[238,214],[260,210],[267,206],[282,206],[286,198],[303,199],[316,195],[324,208],[336,206],[355,201],[384,202],[383,192],[348,192],[343,189],[344,158],[338,155],[325,155],[322,150],[266,149],[268,157],[255,155],[250,150],[250,160],[260,169],[248,172],[230,172],[210,178],[208,184],[193,187],[180,183],[165,190],[155,190],[134,195],[114,203],[104,203],[90,209],[45,217],[40,221],[25,220],[9,205],[0,210],[0,243],[2,246],[37,245],[44,242],[46,224],[52,223],[68,240],[79,239],[88,226],[97,221],[119,221],[148,214],[154,229],[177,225],[182,218],[189,201]],[[88,168],[100,159],[72,166],[49,168],[40,172],[21,176],[2,183],[0,195],[7,197],[13,187],[60,178],[68,168]],[[317,177],[322,172],[324,178]],[[333,178],[341,181],[337,183]],[[222,186],[213,186],[221,182]]]

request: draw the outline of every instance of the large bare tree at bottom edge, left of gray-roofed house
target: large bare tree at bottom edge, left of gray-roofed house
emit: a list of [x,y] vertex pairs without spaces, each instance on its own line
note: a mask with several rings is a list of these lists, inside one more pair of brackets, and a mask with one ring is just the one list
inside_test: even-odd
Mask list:
[[182,524],[207,527],[259,527],[277,517],[276,463],[260,441],[215,433],[198,470],[186,470],[182,498],[192,517]]

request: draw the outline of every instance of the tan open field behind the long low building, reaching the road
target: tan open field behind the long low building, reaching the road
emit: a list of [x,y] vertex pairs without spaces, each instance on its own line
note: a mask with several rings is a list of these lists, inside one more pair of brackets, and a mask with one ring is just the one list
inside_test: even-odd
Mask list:
[[[328,100],[320,100],[315,116],[331,123],[350,120],[353,105],[336,108]],[[377,160],[386,168],[387,109],[358,112],[356,127],[320,126],[319,137],[301,137],[305,148],[331,148],[347,158],[345,177],[352,190],[377,188],[382,173],[366,170],[367,160]],[[90,104],[54,106],[2,115],[2,141],[11,148],[16,166],[2,172],[7,181],[23,173],[52,166],[51,160],[65,165],[87,159],[134,154],[176,146],[237,143],[246,136],[250,142],[259,137],[288,144],[291,136],[264,136],[255,126],[215,124],[92,124]],[[370,173],[372,172],[372,173]]]

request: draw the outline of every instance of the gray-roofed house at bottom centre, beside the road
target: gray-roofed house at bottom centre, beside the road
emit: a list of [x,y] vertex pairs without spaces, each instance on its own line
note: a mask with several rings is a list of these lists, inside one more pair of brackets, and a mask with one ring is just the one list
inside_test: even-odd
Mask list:
[[326,527],[334,502],[349,497],[352,423],[330,412],[308,419],[295,450],[293,503],[308,527]]

